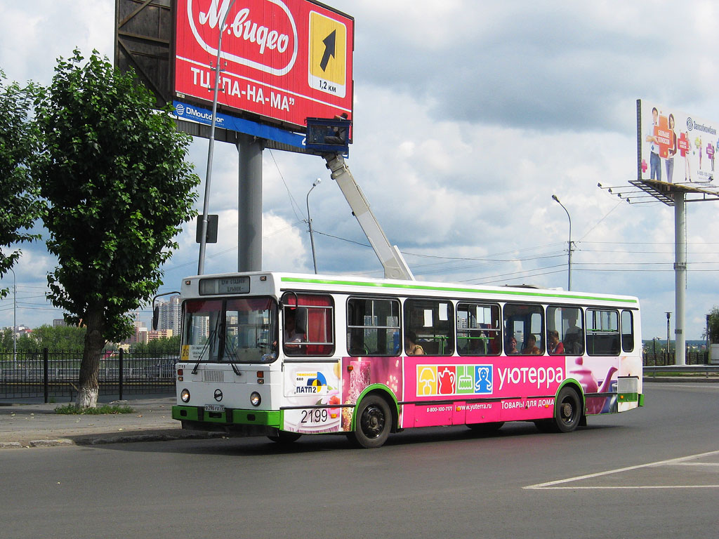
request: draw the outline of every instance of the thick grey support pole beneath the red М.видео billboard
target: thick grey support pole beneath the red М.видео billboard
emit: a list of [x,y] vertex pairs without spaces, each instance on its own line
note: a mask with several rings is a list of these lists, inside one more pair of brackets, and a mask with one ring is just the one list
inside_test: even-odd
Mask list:
[[238,133],[237,271],[262,271],[262,139]]

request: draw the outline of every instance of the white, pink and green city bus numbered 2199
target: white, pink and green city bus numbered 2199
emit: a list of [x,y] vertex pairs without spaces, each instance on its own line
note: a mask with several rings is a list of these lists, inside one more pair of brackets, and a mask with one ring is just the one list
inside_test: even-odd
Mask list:
[[637,298],[304,275],[183,280],[183,428],[346,435],[509,421],[568,433],[644,404]]

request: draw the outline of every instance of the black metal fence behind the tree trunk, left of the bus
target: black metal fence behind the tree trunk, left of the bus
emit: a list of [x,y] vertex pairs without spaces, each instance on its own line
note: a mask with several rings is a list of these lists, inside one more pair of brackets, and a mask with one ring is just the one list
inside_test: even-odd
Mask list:
[[[82,352],[0,353],[0,400],[55,397],[78,393]],[[173,394],[179,356],[148,356],[120,351],[100,359],[100,395]]]

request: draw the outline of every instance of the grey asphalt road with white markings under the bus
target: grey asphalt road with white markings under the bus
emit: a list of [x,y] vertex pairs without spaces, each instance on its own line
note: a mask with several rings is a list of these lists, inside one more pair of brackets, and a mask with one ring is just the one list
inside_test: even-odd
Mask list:
[[571,434],[117,443],[0,453],[3,538],[716,538],[719,384]]

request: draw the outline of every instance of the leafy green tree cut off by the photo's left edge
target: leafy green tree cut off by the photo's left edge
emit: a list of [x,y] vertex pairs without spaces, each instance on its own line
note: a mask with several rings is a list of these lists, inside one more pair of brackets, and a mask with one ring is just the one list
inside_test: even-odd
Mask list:
[[[29,233],[39,216],[40,206],[28,166],[37,144],[36,131],[28,115],[38,88],[32,83],[25,88],[17,83],[4,85],[4,80],[5,73],[0,70],[0,277],[21,254],[19,249],[3,252],[3,247],[40,237]],[[4,298],[8,290],[0,288],[0,298]]]

